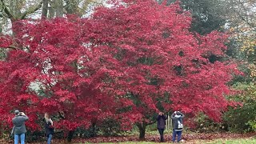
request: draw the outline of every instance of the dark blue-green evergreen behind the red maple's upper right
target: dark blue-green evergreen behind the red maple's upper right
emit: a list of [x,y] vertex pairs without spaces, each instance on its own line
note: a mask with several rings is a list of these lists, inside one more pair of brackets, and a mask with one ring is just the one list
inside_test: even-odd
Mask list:
[[[176,0],[158,0],[158,3],[166,2],[166,5],[177,2]],[[192,23],[190,31],[198,34],[210,34],[213,30],[223,30],[226,23],[226,17],[223,11],[226,10],[225,3],[222,0],[181,0],[180,6],[183,10],[190,11]]]

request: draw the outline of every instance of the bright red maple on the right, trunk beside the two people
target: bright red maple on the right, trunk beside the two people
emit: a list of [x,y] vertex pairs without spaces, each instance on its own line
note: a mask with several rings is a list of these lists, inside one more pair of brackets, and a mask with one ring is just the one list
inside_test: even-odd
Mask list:
[[93,19],[100,26],[93,30],[98,29],[97,45],[107,45],[107,51],[119,56],[122,66],[111,70],[124,71],[116,83],[118,90],[130,93],[133,110],[140,114],[140,137],[159,103],[166,111],[182,110],[191,117],[203,112],[220,121],[223,110],[234,105],[225,98],[230,94],[226,83],[232,74],[241,74],[234,62],[225,60],[227,35],[191,33],[190,13],[178,2],[125,2],[98,9]]

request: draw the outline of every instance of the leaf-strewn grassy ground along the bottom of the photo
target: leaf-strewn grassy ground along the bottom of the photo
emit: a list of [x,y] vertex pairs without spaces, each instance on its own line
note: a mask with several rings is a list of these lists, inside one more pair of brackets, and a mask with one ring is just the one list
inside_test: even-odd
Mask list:
[[[171,142],[172,131],[165,131],[164,138],[166,142]],[[182,143],[185,144],[256,144],[256,132],[247,134],[234,134],[227,132],[216,132],[216,133],[196,133],[184,130],[182,132]],[[12,140],[13,141],[13,140]],[[53,144],[65,144],[65,138],[54,138]],[[0,144],[9,144],[7,139],[0,139]],[[44,142],[26,142],[27,144],[42,144]],[[159,134],[157,130],[147,131],[144,141],[140,141],[138,138],[138,132],[122,134],[119,136],[103,137],[98,135],[95,138],[74,138],[72,144],[90,144],[90,143],[102,143],[102,144],[155,144],[159,143]]]

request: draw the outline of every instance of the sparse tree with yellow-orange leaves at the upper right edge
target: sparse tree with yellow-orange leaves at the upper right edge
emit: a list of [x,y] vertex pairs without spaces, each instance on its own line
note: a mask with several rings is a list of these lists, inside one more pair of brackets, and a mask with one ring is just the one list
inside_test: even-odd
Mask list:
[[[226,1],[230,6],[230,32],[232,37],[238,43],[237,49],[242,55],[244,62],[250,65],[255,64],[255,46],[256,46],[256,19],[255,1]],[[249,66],[253,67],[253,66]],[[252,70],[253,73],[254,70]],[[254,75],[254,74],[252,74]]]

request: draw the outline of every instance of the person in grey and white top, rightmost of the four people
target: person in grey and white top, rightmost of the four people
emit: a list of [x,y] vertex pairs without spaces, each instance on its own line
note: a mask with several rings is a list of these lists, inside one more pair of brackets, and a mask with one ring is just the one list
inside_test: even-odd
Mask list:
[[179,111],[174,111],[170,118],[173,120],[173,142],[175,142],[176,135],[178,135],[177,142],[182,140],[183,118],[185,117]]

